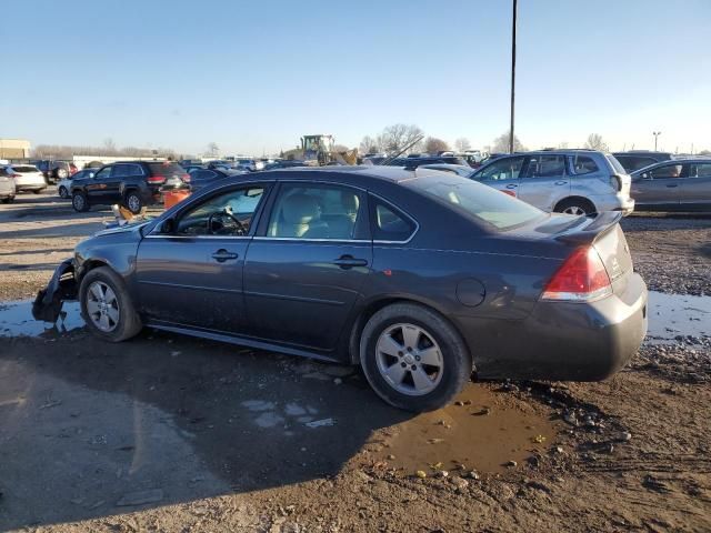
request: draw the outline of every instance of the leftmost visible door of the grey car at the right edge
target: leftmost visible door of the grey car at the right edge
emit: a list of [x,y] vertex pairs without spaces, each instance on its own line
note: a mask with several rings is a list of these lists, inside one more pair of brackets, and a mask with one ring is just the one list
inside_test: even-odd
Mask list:
[[658,164],[635,175],[630,193],[635,205],[647,209],[679,209],[683,170],[683,163],[677,161]]

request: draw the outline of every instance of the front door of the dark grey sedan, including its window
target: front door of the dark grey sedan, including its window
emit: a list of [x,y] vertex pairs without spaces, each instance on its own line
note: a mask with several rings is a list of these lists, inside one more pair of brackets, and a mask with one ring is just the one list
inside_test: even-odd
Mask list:
[[150,320],[243,333],[242,269],[267,191],[260,183],[218,189],[141,241],[138,299]]

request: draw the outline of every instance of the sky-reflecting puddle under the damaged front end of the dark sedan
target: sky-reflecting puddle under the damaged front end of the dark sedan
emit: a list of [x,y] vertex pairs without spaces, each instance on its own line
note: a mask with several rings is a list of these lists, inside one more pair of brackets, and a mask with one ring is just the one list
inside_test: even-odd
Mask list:
[[0,336],[44,336],[62,334],[83,328],[79,302],[64,302],[56,323],[41,322],[32,316],[32,302],[0,303]]

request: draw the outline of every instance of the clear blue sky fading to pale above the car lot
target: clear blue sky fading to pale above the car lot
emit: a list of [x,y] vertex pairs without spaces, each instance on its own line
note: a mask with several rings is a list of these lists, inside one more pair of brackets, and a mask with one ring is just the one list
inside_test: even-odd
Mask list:
[[[393,123],[485,148],[509,129],[507,0],[8,0],[0,138],[223,154]],[[530,149],[711,150],[711,1],[519,0]]]

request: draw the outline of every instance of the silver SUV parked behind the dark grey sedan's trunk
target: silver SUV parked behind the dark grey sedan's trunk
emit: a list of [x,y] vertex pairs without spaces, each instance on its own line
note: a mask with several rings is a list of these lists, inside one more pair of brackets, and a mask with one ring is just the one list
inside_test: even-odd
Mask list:
[[595,150],[513,153],[484,164],[471,178],[549,212],[634,210],[629,174],[613,155]]

